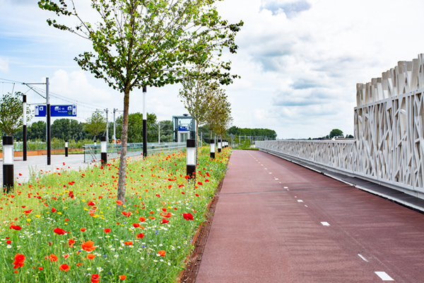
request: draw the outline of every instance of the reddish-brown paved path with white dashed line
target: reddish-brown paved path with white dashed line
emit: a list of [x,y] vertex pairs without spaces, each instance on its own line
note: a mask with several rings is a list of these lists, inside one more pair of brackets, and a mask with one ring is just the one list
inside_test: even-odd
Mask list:
[[424,215],[232,151],[196,283],[424,282]]

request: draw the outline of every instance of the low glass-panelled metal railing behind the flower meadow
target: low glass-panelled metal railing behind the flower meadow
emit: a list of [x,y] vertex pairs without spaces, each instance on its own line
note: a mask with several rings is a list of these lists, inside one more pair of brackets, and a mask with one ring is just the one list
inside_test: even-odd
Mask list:
[[[157,154],[159,152],[172,152],[185,149],[185,142],[168,142],[168,143],[148,143],[147,153]],[[126,157],[141,156],[143,154],[143,143],[126,144]],[[107,158],[117,158],[121,155],[121,144],[107,144]],[[84,162],[100,161],[101,152],[100,144],[85,144],[84,145]]]

